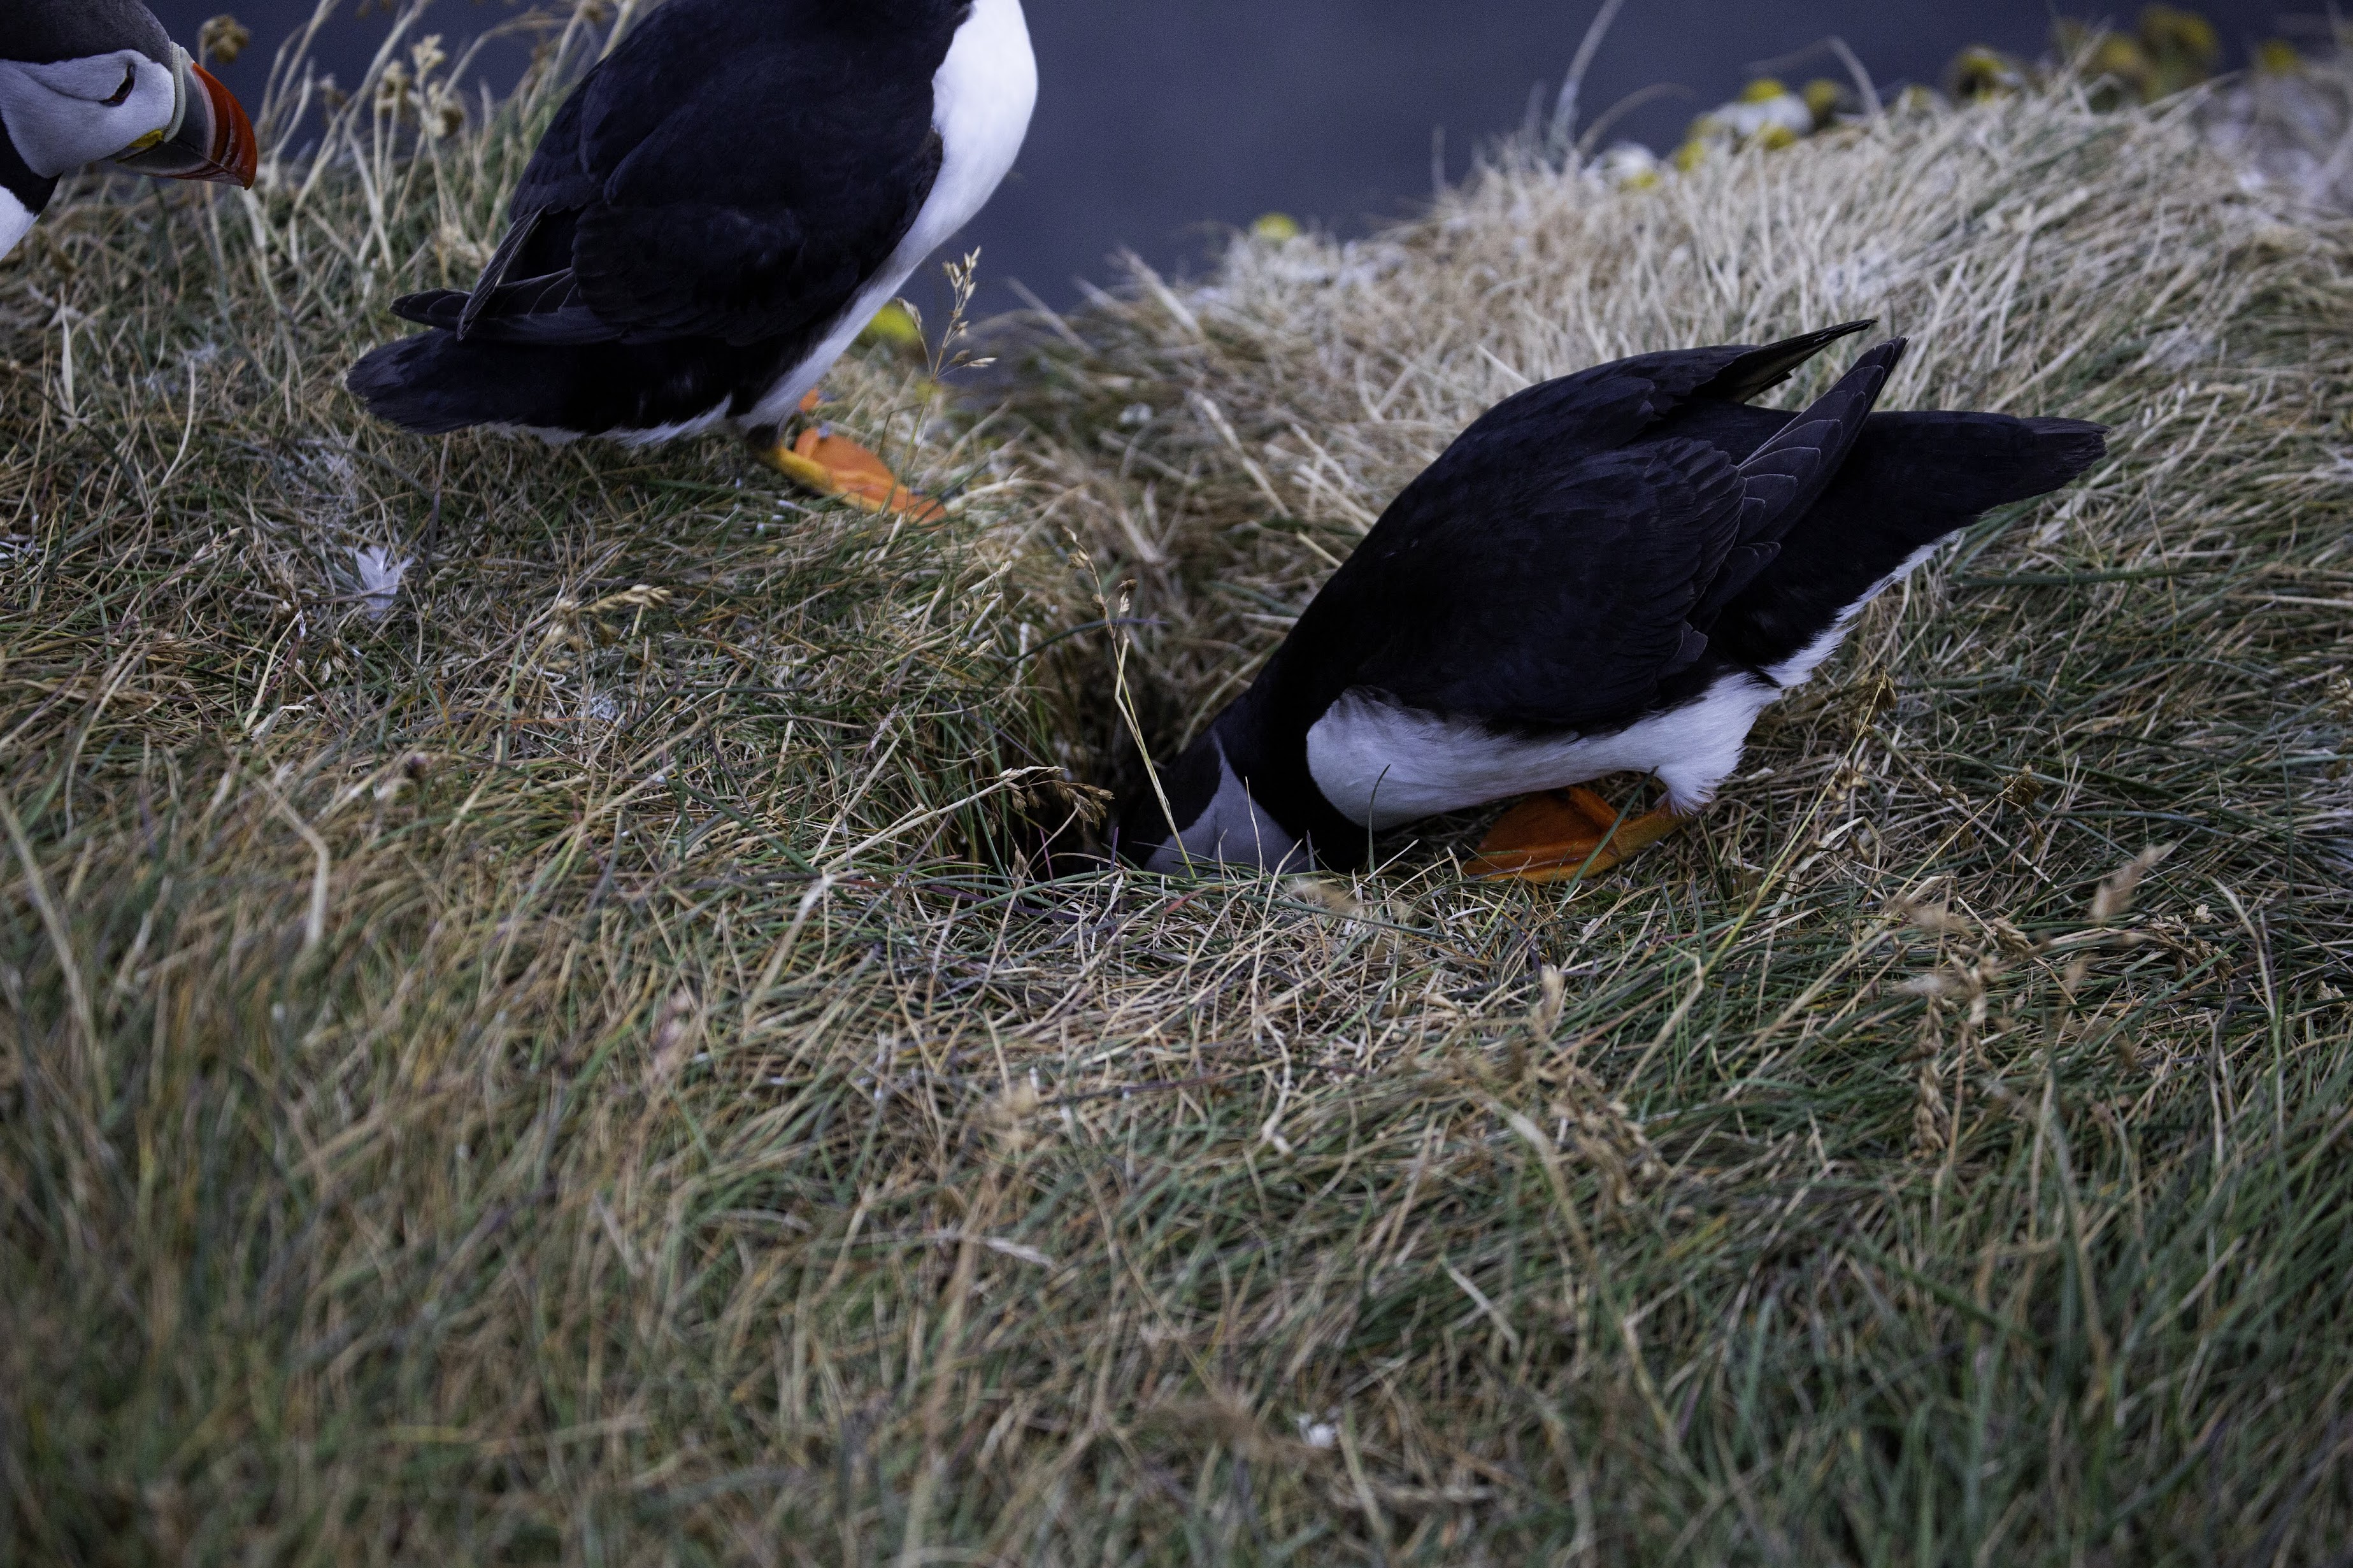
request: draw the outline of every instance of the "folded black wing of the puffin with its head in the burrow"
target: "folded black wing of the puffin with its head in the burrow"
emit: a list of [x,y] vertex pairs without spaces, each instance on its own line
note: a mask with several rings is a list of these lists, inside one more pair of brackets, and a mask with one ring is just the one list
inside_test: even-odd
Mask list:
[[1315,685],[1304,706],[1362,685],[1506,727],[1642,711],[1838,476],[1901,348],[1861,356],[1746,459],[1678,436],[1518,450],[1482,419],[1301,614],[1285,652]]

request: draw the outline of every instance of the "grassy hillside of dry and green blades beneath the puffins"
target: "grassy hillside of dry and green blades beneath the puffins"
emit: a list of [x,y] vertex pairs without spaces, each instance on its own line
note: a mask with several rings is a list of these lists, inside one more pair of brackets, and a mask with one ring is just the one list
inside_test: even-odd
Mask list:
[[[405,104],[0,266],[7,1561],[2341,1561],[2341,228],[2066,97],[1504,153],[845,367],[915,530],[367,424],[548,111]],[[1494,398],[1866,313],[2113,459],[1704,829],[1035,852]]]

